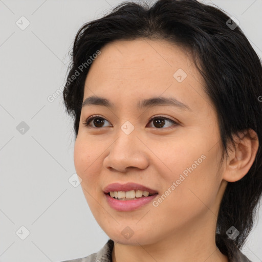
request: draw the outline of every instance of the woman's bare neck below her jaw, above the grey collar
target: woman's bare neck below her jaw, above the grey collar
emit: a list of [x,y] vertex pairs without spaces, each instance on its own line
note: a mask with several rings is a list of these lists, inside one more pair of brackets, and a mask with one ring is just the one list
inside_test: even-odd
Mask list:
[[[139,239],[133,239],[137,243],[114,244],[112,250],[113,262],[228,262],[227,256],[222,254],[215,245],[216,217],[210,212],[207,220],[202,224],[195,221],[190,227],[181,228],[158,242],[141,245]],[[212,219],[213,216],[213,219]],[[211,221],[211,222],[210,222]]]

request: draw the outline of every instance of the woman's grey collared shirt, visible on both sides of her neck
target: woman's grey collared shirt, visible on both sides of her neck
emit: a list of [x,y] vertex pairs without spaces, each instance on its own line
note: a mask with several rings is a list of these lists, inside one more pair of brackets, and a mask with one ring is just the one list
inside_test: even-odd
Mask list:
[[[108,239],[107,243],[97,253],[93,253],[83,258],[63,262],[112,262],[113,247],[114,241],[112,239]],[[233,258],[229,258],[229,262],[252,262],[240,250],[237,250],[237,252],[232,256]]]

